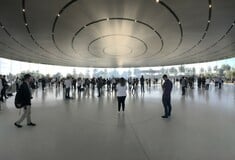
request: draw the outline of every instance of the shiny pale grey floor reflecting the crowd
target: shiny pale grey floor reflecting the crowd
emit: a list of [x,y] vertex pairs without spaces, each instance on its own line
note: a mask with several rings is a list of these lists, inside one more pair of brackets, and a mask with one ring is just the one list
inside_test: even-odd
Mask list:
[[1,104],[1,160],[234,160],[235,85],[172,92],[173,113],[162,119],[160,85],[129,94],[125,113],[117,113],[115,95],[34,91],[32,119],[23,123],[13,99]]

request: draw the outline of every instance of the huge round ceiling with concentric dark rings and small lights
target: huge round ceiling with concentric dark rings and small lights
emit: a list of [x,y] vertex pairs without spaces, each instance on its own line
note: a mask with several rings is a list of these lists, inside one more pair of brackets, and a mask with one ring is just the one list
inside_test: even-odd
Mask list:
[[1,0],[0,57],[145,67],[235,57],[235,1]]

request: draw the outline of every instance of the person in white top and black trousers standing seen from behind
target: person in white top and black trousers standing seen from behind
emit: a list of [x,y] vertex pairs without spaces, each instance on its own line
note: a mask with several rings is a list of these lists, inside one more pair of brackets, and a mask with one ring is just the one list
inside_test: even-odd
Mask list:
[[126,80],[122,77],[119,80],[119,83],[117,84],[117,99],[118,99],[118,112],[120,112],[120,109],[122,107],[122,111],[125,111],[125,99],[126,99]]

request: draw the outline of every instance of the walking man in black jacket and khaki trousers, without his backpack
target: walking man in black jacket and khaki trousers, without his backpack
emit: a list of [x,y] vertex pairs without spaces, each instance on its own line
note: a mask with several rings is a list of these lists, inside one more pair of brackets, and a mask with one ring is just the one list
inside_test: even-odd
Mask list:
[[19,92],[21,92],[21,102],[22,106],[24,108],[24,113],[20,117],[18,121],[15,122],[15,126],[18,128],[21,128],[22,125],[20,123],[26,118],[27,119],[27,125],[28,126],[35,126],[35,123],[32,123],[31,121],[31,88],[30,88],[30,82],[32,81],[32,77],[30,74],[25,74],[23,78],[23,83],[21,84],[19,88]]

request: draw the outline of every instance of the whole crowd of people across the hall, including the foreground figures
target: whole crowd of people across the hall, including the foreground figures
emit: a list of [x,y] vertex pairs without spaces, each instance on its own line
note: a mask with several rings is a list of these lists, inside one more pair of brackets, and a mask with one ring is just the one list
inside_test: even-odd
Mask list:
[[[190,76],[182,76],[182,77],[173,77],[169,78],[167,75],[163,75],[161,77],[161,86],[162,86],[162,103],[164,107],[164,115],[162,118],[169,118],[171,116],[171,91],[172,87],[176,82],[179,82],[182,88],[182,96],[186,94],[186,89],[194,89],[196,77]],[[205,76],[198,76],[197,77],[197,87],[199,89],[204,88],[205,90],[209,89],[209,85],[212,83],[212,81],[215,84],[215,87],[218,87],[221,89],[223,80],[221,78],[209,78]],[[127,80],[123,77],[121,78],[74,78],[72,76],[67,76],[66,78],[45,78],[42,77],[40,79],[36,79],[32,77],[30,74],[25,74],[23,78],[16,78],[15,80],[15,86],[16,91],[20,91],[23,88],[23,92],[26,93],[24,96],[24,113],[20,117],[18,121],[16,121],[14,124],[18,128],[21,128],[22,121],[24,119],[27,119],[27,124],[30,126],[35,126],[35,123],[31,122],[31,98],[32,98],[32,89],[38,89],[39,86],[41,86],[42,91],[44,92],[45,87],[63,87],[64,89],[64,98],[65,99],[72,99],[73,97],[70,95],[71,89],[76,90],[77,92],[83,92],[87,90],[95,91],[97,88],[97,97],[103,96],[104,88],[106,88],[107,92],[109,93],[115,93],[118,101],[118,112],[121,110],[125,111],[125,99],[127,96],[127,91],[129,90],[130,93],[133,95],[138,92],[138,87],[140,86],[140,92],[142,94],[145,93],[145,87],[151,87],[151,84],[157,84],[158,78],[145,78],[143,75],[140,78],[132,78],[129,77]],[[1,97],[0,101],[4,102],[6,101],[7,94],[7,88],[9,87],[6,76],[0,75],[0,91],[1,91]],[[1,109],[1,108],[0,108]]]

